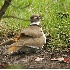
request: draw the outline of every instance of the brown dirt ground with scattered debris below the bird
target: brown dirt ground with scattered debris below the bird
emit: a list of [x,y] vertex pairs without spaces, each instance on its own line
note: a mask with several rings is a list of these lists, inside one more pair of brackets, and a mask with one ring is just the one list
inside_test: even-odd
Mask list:
[[4,47],[0,46],[0,68],[11,68],[9,66],[15,65],[16,69],[69,69],[70,60],[64,62],[60,60],[51,60],[53,58],[68,58],[70,59],[69,51],[67,48],[64,50],[54,50],[51,51],[48,48],[43,49],[38,53],[29,53],[29,54],[17,54],[11,56],[3,56]]

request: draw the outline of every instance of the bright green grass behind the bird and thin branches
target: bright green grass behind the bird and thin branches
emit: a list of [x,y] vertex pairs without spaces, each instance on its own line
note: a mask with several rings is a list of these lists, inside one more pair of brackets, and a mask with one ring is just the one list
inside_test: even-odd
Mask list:
[[[0,0],[1,6],[3,2],[4,0]],[[39,14],[42,16],[41,26],[44,32],[47,33],[48,29],[53,38],[49,45],[70,46],[70,0],[12,0],[11,4],[18,8],[10,5],[4,15],[28,20],[32,14]],[[28,4],[30,4],[29,7],[23,8]],[[62,14],[58,14],[60,12]],[[63,14],[69,16],[65,17]],[[3,18],[1,22],[4,29],[14,32],[18,32],[30,24],[28,21],[11,18]],[[4,32],[4,29],[1,29],[0,34]]]

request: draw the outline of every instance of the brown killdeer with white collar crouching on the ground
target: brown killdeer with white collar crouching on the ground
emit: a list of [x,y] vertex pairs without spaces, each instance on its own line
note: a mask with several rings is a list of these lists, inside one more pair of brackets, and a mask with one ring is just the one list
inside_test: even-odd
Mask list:
[[23,29],[16,39],[16,42],[11,44],[7,54],[13,53],[19,50],[25,50],[25,48],[42,48],[46,43],[46,36],[40,28],[40,16],[32,15],[30,17],[30,26]]

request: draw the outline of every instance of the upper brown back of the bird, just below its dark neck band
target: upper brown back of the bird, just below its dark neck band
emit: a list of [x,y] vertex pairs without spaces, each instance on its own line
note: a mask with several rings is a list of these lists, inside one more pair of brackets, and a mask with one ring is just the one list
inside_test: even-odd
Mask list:
[[41,37],[42,36],[42,32],[40,27],[38,26],[30,26],[24,30],[21,31],[20,35],[27,35],[27,36],[31,36],[31,37]]

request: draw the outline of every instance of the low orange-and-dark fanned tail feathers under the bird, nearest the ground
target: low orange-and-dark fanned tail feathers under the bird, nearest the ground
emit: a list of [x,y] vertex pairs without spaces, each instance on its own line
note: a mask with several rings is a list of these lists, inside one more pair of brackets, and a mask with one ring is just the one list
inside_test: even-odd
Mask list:
[[37,48],[29,47],[29,46],[10,46],[6,52],[4,52],[4,55],[12,55],[12,54],[29,54],[29,53],[35,53]]

